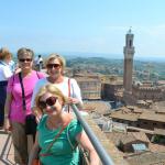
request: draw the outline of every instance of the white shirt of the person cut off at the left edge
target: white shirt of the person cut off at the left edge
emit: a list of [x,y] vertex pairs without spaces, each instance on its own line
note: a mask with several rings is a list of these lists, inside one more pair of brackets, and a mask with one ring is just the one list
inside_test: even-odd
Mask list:
[[0,61],[0,81],[8,80],[12,76],[11,68],[8,64]]

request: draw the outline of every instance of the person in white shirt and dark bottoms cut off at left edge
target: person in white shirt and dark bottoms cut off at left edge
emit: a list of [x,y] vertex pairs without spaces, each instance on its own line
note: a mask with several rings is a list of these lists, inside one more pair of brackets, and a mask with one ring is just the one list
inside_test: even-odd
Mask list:
[[11,53],[8,48],[0,50],[0,129],[4,122],[4,102],[7,98],[8,79],[12,76],[9,63],[11,62]]

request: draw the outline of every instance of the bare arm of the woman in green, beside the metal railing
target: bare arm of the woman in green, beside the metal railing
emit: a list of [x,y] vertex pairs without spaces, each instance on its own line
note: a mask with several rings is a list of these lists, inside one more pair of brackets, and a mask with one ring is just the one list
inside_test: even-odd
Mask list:
[[99,157],[95,151],[91,142],[89,141],[87,134],[82,131],[76,136],[76,140],[80,145],[89,153],[90,165],[99,165]]

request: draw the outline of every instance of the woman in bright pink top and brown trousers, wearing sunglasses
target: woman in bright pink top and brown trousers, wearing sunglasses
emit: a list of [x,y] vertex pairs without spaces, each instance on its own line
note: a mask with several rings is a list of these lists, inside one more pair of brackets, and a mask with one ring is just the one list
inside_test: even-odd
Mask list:
[[[31,99],[33,88],[43,73],[32,69],[34,53],[30,48],[22,47],[18,51],[18,61],[20,73],[14,74],[8,81],[6,100],[6,131],[11,131],[14,161],[20,165],[28,163],[28,136],[25,121],[31,116]],[[23,101],[24,100],[24,101]],[[35,118],[34,118],[35,119]],[[33,136],[35,135],[35,125],[33,125]]]

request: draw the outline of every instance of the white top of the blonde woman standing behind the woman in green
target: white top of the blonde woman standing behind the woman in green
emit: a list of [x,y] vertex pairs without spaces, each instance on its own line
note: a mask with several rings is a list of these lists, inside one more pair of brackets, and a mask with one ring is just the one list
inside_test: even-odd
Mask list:
[[[41,87],[43,87],[47,84],[51,84],[51,82],[47,80],[46,77],[37,80],[35,87],[34,87],[34,90],[33,90],[31,108],[35,107],[35,96],[40,91]],[[61,91],[63,92],[64,96],[68,97],[68,77],[64,77],[63,82],[53,84],[53,85],[55,85],[58,89],[61,89]],[[70,78],[70,97],[78,99],[80,101],[80,103],[82,103],[80,88],[79,88],[77,81],[73,78]]]

